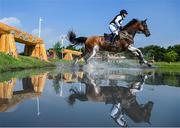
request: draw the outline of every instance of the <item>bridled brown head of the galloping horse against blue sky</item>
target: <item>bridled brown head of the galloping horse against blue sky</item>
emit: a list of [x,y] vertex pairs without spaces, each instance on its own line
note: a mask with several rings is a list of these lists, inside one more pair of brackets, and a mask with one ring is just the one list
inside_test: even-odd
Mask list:
[[138,31],[142,32],[146,37],[150,36],[151,33],[148,29],[147,23],[146,23],[147,19],[143,20],[143,21],[139,21],[138,23]]

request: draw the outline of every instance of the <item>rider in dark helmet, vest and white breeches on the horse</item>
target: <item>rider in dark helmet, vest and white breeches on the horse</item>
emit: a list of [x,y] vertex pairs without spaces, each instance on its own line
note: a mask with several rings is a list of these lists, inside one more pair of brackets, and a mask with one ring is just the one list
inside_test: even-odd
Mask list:
[[109,23],[109,29],[113,33],[112,43],[114,43],[115,39],[118,37],[118,32],[122,30],[122,22],[127,14],[127,11],[122,9],[120,13]]

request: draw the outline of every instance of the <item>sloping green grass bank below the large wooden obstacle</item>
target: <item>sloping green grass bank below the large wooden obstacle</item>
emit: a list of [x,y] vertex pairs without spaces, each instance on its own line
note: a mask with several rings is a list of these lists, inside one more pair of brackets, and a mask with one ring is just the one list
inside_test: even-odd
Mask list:
[[50,62],[41,61],[37,58],[19,55],[16,59],[10,55],[0,53],[0,72],[51,66],[55,65]]

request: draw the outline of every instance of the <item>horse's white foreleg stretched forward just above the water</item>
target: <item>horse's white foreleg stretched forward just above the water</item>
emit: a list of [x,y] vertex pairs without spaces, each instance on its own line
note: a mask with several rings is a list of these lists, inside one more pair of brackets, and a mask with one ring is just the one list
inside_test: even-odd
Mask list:
[[147,64],[149,67],[151,66],[145,59],[144,56],[138,48],[132,47],[131,45],[128,47],[128,50],[131,51],[134,55],[138,56],[139,58],[139,63],[140,64]]

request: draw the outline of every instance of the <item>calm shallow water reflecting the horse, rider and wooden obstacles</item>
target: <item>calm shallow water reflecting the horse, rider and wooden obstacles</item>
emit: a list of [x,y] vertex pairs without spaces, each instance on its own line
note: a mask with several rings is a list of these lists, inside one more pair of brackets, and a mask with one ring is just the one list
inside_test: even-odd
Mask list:
[[180,126],[178,72],[61,65],[0,76],[1,127]]

